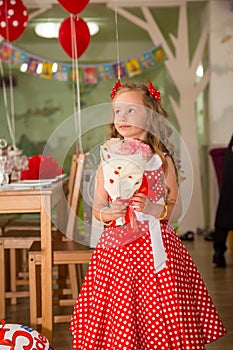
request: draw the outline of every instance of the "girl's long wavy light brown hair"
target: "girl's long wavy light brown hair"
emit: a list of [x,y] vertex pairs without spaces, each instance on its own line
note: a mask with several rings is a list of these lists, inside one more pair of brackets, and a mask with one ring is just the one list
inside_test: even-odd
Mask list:
[[[179,182],[178,170],[180,168],[179,161],[175,159],[174,146],[170,142],[169,138],[172,134],[172,129],[166,123],[168,114],[162,107],[160,101],[155,100],[148,91],[148,86],[143,83],[128,82],[122,85],[116,92],[115,98],[124,92],[138,92],[142,96],[143,104],[148,108],[149,113],[149,128],[147,130],[147,138],[145,142],[150,145],[152,151],[159,155],[163,164],[163,171],[167,172],[167,160],[166,155],[169,155],[173,160],[177,182]],[[114,122],[109,124],[109,137],[119,137],[121,135],[117,132]]]

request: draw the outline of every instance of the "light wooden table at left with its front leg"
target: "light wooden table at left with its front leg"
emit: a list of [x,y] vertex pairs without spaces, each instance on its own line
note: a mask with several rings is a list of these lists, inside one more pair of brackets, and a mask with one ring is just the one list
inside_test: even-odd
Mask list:
[[52,209],[57,207],[57,226],[60,228],[66,199],[64,183],[59,180],[42,189],[0,190],[0,214],[40,213],[41,226],[41,285],[42,334],[52,340]]

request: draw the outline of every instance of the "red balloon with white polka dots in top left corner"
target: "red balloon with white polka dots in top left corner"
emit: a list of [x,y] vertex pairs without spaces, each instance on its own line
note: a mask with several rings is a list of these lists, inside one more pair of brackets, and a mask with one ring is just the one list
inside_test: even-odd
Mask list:
[[28,10],[21,0],[0,1],[0,35],[8,40],[18,39],[28,23]]

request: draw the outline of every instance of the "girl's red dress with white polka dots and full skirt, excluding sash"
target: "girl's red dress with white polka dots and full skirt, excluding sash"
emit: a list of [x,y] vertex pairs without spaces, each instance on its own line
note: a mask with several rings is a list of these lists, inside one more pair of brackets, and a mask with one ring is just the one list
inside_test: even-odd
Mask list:
[[[146,171],[157,201],[161,167]],[[202,350],[226,330],[192,258],[161,221],[166,266],[156,272],[148,221],[106,227],[95,249],[70,330],[77,350]]]

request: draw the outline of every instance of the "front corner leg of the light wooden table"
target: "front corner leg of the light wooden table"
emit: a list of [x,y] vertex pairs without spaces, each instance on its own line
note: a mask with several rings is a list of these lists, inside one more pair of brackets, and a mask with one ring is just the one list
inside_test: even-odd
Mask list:
[[41,306],[42,334],[52,340],[52,225],[51,198],[41,197]]

